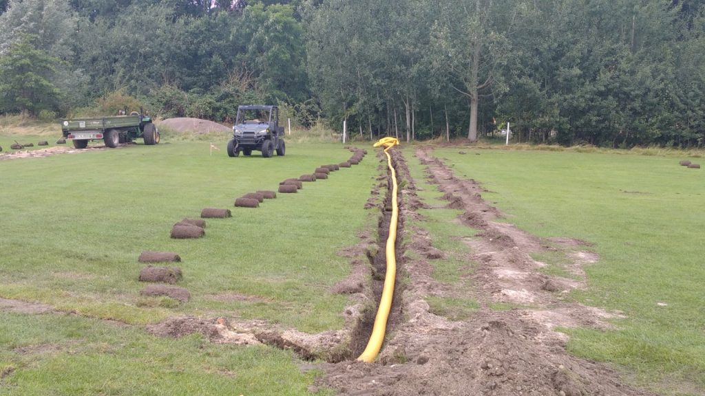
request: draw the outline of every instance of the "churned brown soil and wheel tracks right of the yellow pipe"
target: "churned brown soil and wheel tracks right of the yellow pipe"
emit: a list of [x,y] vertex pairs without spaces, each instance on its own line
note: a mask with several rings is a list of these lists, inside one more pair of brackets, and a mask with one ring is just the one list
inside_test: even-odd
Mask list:
[[[403,214],[418,216],[415,210],[424,204],[416,197],[400,151],[395,156],[398,173],[409,181],[401,191]],[[501,214],[482,200],[482,187],[456,178],[430,149],[418,149],[416,156],[427,166],[429,180],[446,193],[449,206],[465,211],[462,223],[482,230],[481,237],[466,241],[472,248],[468,259],[476,263],[470,273],[472,286],[432,279],[429,260],[438,252],[430,246],[428,233],[407,228],[403,271],[410,280],[401,303],[406,320],[396,324],[379,364],[324,364],[326,376],[319,385],[332,386],[342,395],[651,395],[623,385],[606,366],[565,352],[567,336],[553,328],[605,328],[609,325],[603,318],[612,315],[563,302],[563,292],[584,287],[583,281],[537,271],[542,264],[529,254],[556,248],[498,221]],[[431,296],[478,299],[481,309],[467,321],[448,321],[429,312],[426,299]],[[496,302],[532,309],[488,308]]]

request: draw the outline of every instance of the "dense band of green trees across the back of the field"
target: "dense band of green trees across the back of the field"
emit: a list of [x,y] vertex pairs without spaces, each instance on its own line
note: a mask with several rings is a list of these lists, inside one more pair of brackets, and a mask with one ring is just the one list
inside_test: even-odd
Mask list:
[[705,144],[705,0],[0,0],[0,113],[238,104],[363,137]]

